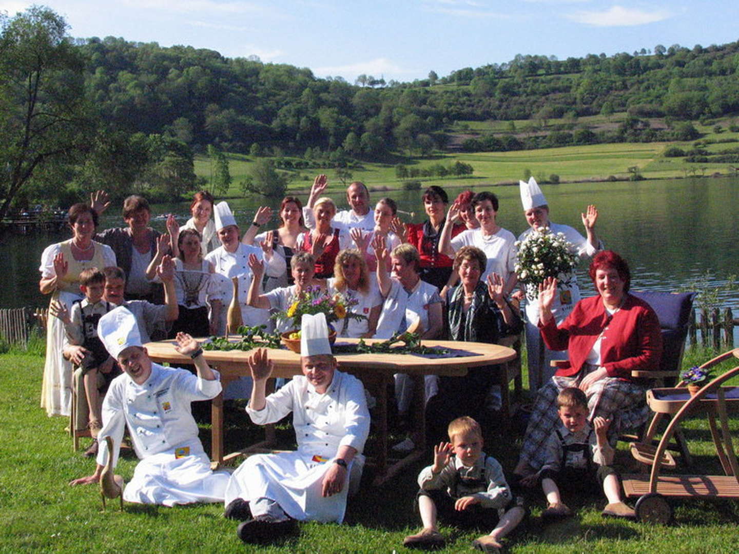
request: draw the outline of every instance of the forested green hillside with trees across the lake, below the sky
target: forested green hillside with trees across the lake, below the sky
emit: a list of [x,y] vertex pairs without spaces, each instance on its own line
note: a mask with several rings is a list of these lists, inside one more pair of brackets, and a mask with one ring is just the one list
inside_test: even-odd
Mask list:
[[[565,61],[517,55],[412,83],[347,83],[208,49],[72,39],[45,7],[0,14],[0,24],[0,219],[11,202],[69,204],[94,188],[185,195],[202,186],[199,154],[228,191],[224,152],[269,158],[259,171],[276,175],[402,165],[449,149],[687,141],[699,136],[695,120],[739,112],[739,43]],[[619,123],[602,128],[581,119],[616,113]],[[482,121],[505,127],[469,131]]]

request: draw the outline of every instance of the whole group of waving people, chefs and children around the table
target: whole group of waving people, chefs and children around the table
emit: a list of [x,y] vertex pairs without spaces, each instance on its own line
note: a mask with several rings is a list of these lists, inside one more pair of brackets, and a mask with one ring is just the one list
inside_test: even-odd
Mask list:
[[[41,291],[52,294],[41,403],[49,414],[68,413],[70,363],[83,368],[90,428],[98,437],[94,446],[101,444],[92,452],[98,471],[107,456],[117,456],[117,450],[106,451],[101,438],[112,436],[117,449],[127,424],[142,460],[176,460],[158,465],[159,459],[152,459],[155,471],[141,462],[135,486],[127,488],[132,502],[225,499],[226,515],[244,520],[238,533],[245,541],[290,533],[295,520],[341,521],[350,481],[361,473],[369,412],[361,383],[336,370],[323,342],[324,321],[303,322],[303,377],[265,397],[270,362],[259,351],[249,360],[248,387],[234,392],[251,399],[247,411],[254,423],[272,423],[293,412],[299,448],[292,458],[251,456],[230,480],[220,473],[207,473],[205,479],[207,459],[188,409],[191,400],[220,392],[217,372],[207,368],[192,337],[224,331],[224,307],[234,294],[245,324],[285,332],[290,321],[273,321],[270,312],[285,311],[315,287],[353,299],[349,309],[363,316],[339,322],[336,332],[344,337],[389,338],[412,329],[421,338],[498,343],[525,327],[537,397],[511,482],[540,484],[548,501],[545,514],[556,517],[570,513],[558,485],[582,483],[573,474],[587,475],[602,483],[609,501],[606,515],[633,517],[621,502],[610,462],[619,431],[646,420],[645,384],[631,372],[656,369],[661,332],[648,304],[628,293],[626,261],[604,250],[596,236],[596,208],[582,213],[582,236],[551,222],[534,179],[520,183],[529,229],[519,239],[547,228],[563,233],[577,256],[593,258],[589,275],[598,295],[580,300],[573,276],[566,284],[548,278],[535,290],[519,287],[516,239],[497,225],[499,202],[490,192],[465,191],[449,205],[446,191],[431,186],[422,196],[428,219],[406,224],[389,197],[372,211],[361,182],[347,188],[350,209],[344,211],[321,196],[326,187],[326,177],[316,177],[305,207],[296,196],[286,196],[275,229],[265,229],[270,208],[259,208],[244,233],[228,204],[216,204],[205,191],[192,202],[192,218],[180,227],[169,216],[163,235],[149,227],[149,205],[140,196],[124,202],[126,228],[99,234],[98,216],[109,205],[104,193],[93,195],[89,205],[70,208],[72,239],[47,247],[41,261]],[[524,297],[525,322],[518,309]],[[131,330],[124,337],[120,329]],[[180,352],[191,355],[196,375],[149,360],[143,344],[167,335],[177,340]],[[551,375],[554,358],[569,361]],[[449,442],[437,444],[433,465],[419,476],[423,530],[406,538],[408,546],[443,544],[437,511],[459,516],[491,508],[494,530],[475,541],[486,551],[500,547],[500,539],[521,520],[522,507],[500,465],[481,451],[482,428],[494,425],[488,409],[496,394],[493,383],[489,367],[465,377],[426,377],[425,397],[413,399],[409,380],[396,375],[398,418],[425,409],[432,437],[439,440],[444,431],[449,436]],[[412,438],[404,441],[411,448]],[[98,471],[77,482],[94,480]],[[152,485],[167,483],[157,472],[173,475],[171,483],[161,485],[165,491]],[[188,481],[194,475],[197,479]]]

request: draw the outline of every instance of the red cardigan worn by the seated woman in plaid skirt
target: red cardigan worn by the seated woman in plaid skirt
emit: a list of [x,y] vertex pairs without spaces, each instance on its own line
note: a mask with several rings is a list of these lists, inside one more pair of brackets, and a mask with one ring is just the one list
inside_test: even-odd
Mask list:
[[539,321],[547,347],[568,350],[570,356],[570,366],[558,369],[556,375],[576,375],[605,326],[608,330],[601,341],[601,366],[608,377],[630,380],[633,369],[659,369],[662,333],[657,315],[649,304],[627,294],[621,310],[613,316],[605,310],[601,297],[593,296],[579,301],[559,327],[554,318],[543,326]]

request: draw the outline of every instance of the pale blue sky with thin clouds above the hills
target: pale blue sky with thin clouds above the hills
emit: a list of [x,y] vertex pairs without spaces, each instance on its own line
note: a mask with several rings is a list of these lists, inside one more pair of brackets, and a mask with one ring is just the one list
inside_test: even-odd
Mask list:
[[[0,0],[11,16],[33,2]],[[38,1],[37,3],[44,3]],[[353,82],[439,76],[516,54],[581,57],[739,38],[726,0],[50,0],[75,37],[188,44]]]

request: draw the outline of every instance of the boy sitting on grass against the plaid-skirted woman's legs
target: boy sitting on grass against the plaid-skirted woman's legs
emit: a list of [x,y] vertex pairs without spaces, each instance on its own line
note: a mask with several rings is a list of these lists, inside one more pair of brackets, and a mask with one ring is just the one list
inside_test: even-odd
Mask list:
[[562,502],[559,487],[582,490],[603,488],[608,504],[604,516],[634,519],[634,510],[621,501],[619,476],[610,463],[613,447],[606,434],[610,420],[596,417],[593,427],[588,424],[588,398],[577,387],[568,387],[556,399],[557,412],[562,425],[546,443],[546,462],[534,479],[541,482],[548,507],[543,519],[555,519],[572,515],[572,510]]

